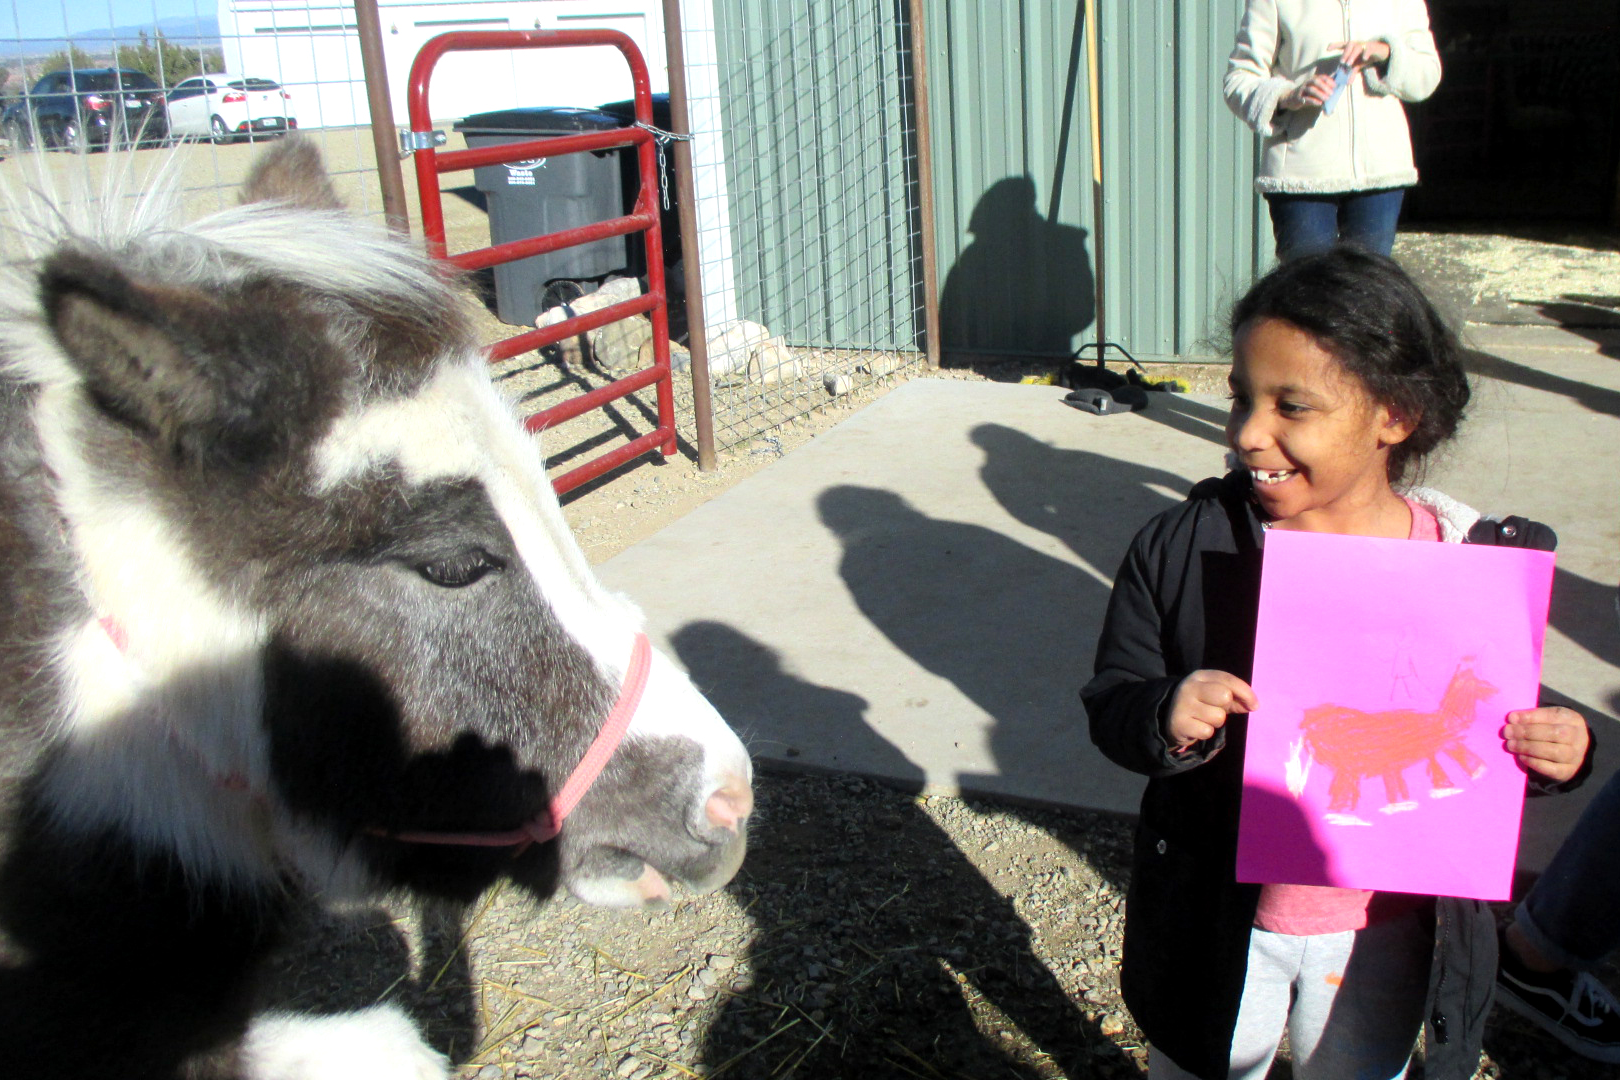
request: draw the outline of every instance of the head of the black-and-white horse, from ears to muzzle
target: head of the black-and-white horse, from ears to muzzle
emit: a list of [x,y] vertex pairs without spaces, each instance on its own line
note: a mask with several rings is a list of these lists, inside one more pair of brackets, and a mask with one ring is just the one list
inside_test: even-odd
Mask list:
[[[308,144],[238,207],[58,236],[29,267],[0,389],[37,442],[13,489],[52,507],[16,539],[57,594],[0,704],[49,699],[60,827],[318,891],[510,876],[635,905],[735,873],[748,756],[659,653],[561,834],[528,842],[642,615],[590,572],[462,291],[342,214]],[[11,562],[0,599],[52,591]]]

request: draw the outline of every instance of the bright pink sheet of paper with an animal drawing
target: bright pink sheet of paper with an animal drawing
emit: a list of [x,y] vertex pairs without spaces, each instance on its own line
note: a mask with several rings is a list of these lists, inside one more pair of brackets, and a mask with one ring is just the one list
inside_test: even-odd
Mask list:
[[1552,552],[1265,536],[1238,881],[1503,900]]

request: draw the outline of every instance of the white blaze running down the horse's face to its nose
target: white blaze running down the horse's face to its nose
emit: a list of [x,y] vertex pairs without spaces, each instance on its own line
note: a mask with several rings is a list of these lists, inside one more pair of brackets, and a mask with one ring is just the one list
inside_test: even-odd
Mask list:
[[[562,518],[536,439],[496,392],[481,356],[444,364],[408,398],[340,419],[318,449],[316,461],[322,491],[384,463],[397,465],[407,483],[476,478],[564,630],[611,678],[624,675],[633,636],[642,630],[642,612],[604,589],[591,573]],[[735,816],[734,826],[740,826],[752,810],[748,755],[708,699],[654,649],[629,737],[659,735],[685,737],[703,748],[703,790],[723,795],[710,816]]]

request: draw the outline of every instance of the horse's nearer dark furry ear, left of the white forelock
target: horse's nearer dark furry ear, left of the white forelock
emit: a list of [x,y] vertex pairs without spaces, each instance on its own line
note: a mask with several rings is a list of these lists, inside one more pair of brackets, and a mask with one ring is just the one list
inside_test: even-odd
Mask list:
[[[107,416],[194,460],[249,465],[284,440],[272,387],[228,342],[254,337],[199,291],[141,285],[107,256],[65,249],[40,274],[50,329]],[[224,329],[215,329],[224,327]]]

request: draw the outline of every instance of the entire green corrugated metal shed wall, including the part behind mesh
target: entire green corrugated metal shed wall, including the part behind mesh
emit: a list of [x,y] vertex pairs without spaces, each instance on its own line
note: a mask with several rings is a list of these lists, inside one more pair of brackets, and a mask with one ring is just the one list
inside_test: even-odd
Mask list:
[[[737,301],[797,345],[915,348],[906,0],[714,0]],[[1100,0],[1108,338],[1205,358],[1264,269],[1220,99],[1243,0]],[[1081,0],[925,0],[946,353],[1095,340]]]

